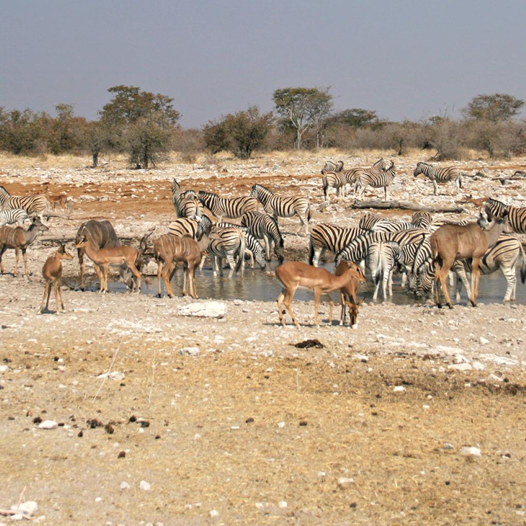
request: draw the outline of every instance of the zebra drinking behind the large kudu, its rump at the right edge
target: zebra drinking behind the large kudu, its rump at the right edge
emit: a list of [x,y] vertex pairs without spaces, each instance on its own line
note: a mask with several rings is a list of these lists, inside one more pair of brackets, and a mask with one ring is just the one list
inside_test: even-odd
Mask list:
[[[482,257],[479,269],[481,274],[488,275],[500,268],[506,282],[508,284],[504,294],[503,301],[513,301],[515,299],[515,290],[517,289],[517,276],[515,275],[515,267],[521,260],[520,276],[521,281],[526,281],[526,255],[521,242],[509,235],[501,235],[497,242],[487,250]],[[471,294],[471,289],[466,275],[466,271],[470,271],[471,267],[468,261],[457,260],[454,262],[451,269],[457,274],[457,301],[460,299],[460,292],[462,285],[466,289],[468,296]],[[427,296],[433,288],[434,284],[434,262],[432,258],[427,259],[418,270],[418,284],[414,291],[417,298]]]

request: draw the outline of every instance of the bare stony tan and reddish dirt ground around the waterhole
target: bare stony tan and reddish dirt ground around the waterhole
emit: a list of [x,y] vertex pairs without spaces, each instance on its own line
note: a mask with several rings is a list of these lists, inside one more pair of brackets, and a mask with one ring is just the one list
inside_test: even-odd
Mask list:
[[[373,157],[338,156],[350,166]],[[472,177],[458,196],[445,187],[432,196],[429,181],[414,180],[418,160],[396,159],[392,199],[451,205],[493,195],[524,206],[526,183],[495,179],[525,159],[461,163]],[[0,178],[13,194],[49,181],[73,195],[73,214],[47,223],[65,237],[100,217],[124,237],[154,225],[163,234],[171,177],[222,195],[246,195],[255,182],[301,193],[313,222],[355,225],[363,211],[349,208],[352,199],[331,195],[323,208],[323,161],[171,159],[131,171],[120,159],[93,170],[83,159],[0,157]],[[474,217],[464,206],[451,217]],[[297,219],[283,229],[287,259],[305,260]],[[42,524],[526,523],[523,304],[366,302],[351,329],[315,328],[312,302],[295,301],[297,330],[277,325],[275,302],[229,300],[225,317],[203,319],[178,315],[191,303],[184,298],[65,288],[67,312],[38,315],[52,252],[41,241],[28,249],[31,282],[0,276],[0,508],[26,488]],[[4,259],[11,272],[11,251]],[[64,273],[75,279],[76,261]],[[327,306],[320,312],[326,322]],[[306,339],[323,347],[295,347]],[[124,377],[97,378],[108,371]],[[45,420],[58,427],[39,428]]]

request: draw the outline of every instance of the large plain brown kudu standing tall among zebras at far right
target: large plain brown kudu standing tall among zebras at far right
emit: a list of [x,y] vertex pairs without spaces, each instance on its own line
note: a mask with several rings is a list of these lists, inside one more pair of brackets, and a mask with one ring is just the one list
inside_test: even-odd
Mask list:
[[488,230],[482,230],[476,223],[470,223],[468,225],[443,225],[431,234],[429,242],[435,263],[434,292],[439,309],[442,308],[439,283],[446,298],[447,306],[450,309],[453,308],[446,285],[446,276],[456,259],[471,259],[470,301],[473,307],[477,305],[480,260],[488,248],[497,242],[497,239],[503,232],[510,234],[512,231],[513,229],[508,222],[508,215],[505,214],[501,219],[495,221]]

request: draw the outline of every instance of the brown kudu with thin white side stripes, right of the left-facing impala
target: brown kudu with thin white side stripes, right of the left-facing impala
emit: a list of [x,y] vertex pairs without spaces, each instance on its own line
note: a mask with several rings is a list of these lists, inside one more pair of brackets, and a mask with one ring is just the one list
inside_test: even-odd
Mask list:
[[177,237],[171,234],[163,234],[154,243],[154,255],[157,260],[157,296],[161,297],[161,278],[163,278],[166,294],[174,297],[171,288],[171,278],[177,268],[177,263],[184,265],[185,280],[183,285],[183,296],[188,296],[187,285],[190,296],[197,299],[195,282],[196,267],[201,261],[201,254],[208,246],[208,234],[203,234],[199,241],[191,236]]

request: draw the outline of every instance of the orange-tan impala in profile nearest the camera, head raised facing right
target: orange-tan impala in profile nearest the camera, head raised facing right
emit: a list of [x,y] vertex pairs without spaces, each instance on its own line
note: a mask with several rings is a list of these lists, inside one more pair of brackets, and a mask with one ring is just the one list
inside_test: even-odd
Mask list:
[[[312,267],[300,261],[287,261],[276,269],[276,277],[281,281],[283,289],[278,296],[278,314],[281,325],[285,327],[285,317],[283,315],[283,305],[287,309],[294,325],[299,327],[299,323],[291,309],[292,298],[298,287],[306,287],[314,291],[314,325],[318,326],[318,306],[321,295],[329,295],[338,289],[345,288],[353,279],[357,279],[358,271],[348,268],[343,271],[341,276],[335,276],[328,270],[319,267]],[[359,278],[361,279],[361,278]],[[350,313],[350,316],[352,314]]]

